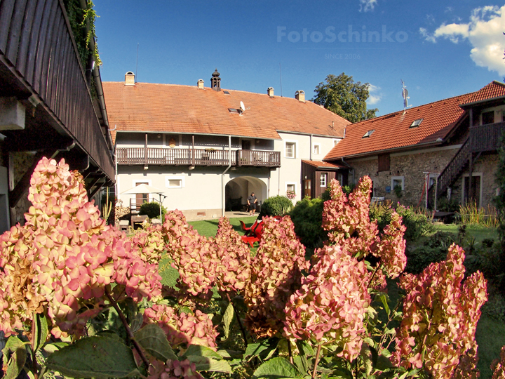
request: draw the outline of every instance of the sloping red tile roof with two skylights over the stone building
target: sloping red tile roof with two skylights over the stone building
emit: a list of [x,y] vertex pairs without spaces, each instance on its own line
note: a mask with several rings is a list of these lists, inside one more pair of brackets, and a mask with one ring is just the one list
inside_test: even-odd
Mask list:
[[[464,109],[459,107],[475,93],[456,96],[419,107],[386,114],[382,117],[347,126],[343,140],[326,155],[325,160],[341,157],[377,154],[388,149],[400,149],[414,145],[434,144],[438,138],[445,139]],[[423,119],[421,124],[410,128],[412,122]],[[368,131],[372,135],[363,138]]]

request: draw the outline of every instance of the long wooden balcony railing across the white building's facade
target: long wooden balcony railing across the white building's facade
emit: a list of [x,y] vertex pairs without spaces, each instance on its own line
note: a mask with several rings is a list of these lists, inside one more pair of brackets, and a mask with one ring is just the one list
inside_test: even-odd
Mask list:
[[[117,147],[119,165],[228,166],[228,150],[171,149],[168,147]],[[281,152],[232,150],[231,166],[281,166]]]

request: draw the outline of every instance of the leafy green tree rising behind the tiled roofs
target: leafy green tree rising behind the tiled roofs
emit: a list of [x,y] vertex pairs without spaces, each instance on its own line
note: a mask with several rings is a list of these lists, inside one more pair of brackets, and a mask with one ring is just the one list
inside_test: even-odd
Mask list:
[[330,74],[326,77],[326,83],[321,82],[316,86],[316,97],[312,101],[352,123],[373,119],[379,109],[367,109],[369,86],[368,83],[355,82],[344,72],[338,77]]

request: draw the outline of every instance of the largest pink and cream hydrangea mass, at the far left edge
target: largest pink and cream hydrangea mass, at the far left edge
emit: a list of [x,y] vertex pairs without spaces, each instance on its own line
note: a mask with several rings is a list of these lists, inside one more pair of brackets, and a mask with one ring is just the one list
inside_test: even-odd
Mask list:
[[6,336],[45,310],[55,337],[82,335],[112,282],[136,300],[161,293],[157,265],[105,225],[88,202],[82,176],[64,160],[39,161],[28,199],[25,225],[0,237],[0,329]]

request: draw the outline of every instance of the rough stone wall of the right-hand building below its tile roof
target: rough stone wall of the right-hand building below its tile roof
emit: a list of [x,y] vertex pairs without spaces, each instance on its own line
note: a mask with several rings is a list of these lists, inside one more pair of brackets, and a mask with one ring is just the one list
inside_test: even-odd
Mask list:
[[[354,168],[354,180],[364,175],[369,175],[374,182],[374,196],[391,199],[394,203],[400,202],[404,205],[418,204],[424,206],[426,193],[423,193],[425,176],[423,172],[440,173],[456,154],[458,148],[452,149],[430,149],[428,152],[416,151],[408,154],[391,154],[389,171],[378,172],[378,158],[368,160],[356,159],[348,163]],[[391,179],[393,177],[403,177],[404,189],[397,197],[393,192]],[[391,187],[391,192],[386,192],[386,187]]]

